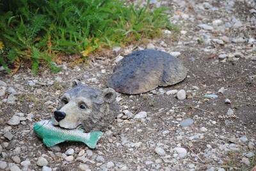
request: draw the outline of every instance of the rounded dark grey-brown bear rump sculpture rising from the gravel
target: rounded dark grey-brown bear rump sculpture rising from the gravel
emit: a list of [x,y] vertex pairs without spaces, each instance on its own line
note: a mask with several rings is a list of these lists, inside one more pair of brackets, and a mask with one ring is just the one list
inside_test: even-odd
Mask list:
[[187,72],[178,59],[166,52],[141,50],[124,57],[107,84],[119,93],[140,94],[177,84],[186,78]]

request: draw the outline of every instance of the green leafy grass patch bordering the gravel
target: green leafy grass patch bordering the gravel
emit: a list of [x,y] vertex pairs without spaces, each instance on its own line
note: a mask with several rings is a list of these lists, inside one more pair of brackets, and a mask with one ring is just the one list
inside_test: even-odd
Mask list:
[[[57,54],[88,53],[99,47],[127,45],[175,29],[166,8],[150,10],[119,0],[16,0],[0,3],[0,63],[29,59],[33,73],[40,64],[58,71]],[[87,50],[87,51],[86,51]]]

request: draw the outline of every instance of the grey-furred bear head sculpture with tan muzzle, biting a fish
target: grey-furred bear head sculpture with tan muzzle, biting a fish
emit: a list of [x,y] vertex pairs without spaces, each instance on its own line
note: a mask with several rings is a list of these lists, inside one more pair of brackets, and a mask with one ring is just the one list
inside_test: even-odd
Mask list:
[[105,131],[119,111],[115,100],[114,89],[106,88],[100,91],[74,80],[72,89],[61,96],[57,105],[57,110],[65,112],[66,116],[53,123],[67,129],[81,127],[86,132]]

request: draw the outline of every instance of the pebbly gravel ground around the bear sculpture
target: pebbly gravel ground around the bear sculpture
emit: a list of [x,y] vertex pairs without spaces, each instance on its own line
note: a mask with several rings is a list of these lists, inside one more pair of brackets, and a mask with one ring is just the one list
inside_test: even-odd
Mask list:
[[[151,1],[175,15],[180,33],[115,48],[89,66],[63,64],[37,77],[23,66],[0,71],[0,170],[250,170],[256,165],[255,1]],[[51,148],[33,133],[79,78],[103,89],[118,59],[155,48],[189,69],[179,84],[118,94],[120,113],[96,149],[66,142]],[[114,54],[119,54],[116,56]],[[100,60],[100,59],[104,60]],[[186,99],[183,100],[183,98]]]

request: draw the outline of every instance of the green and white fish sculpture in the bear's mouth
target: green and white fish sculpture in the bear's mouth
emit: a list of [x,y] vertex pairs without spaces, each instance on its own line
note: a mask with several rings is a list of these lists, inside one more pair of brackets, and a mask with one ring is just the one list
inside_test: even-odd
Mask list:
[[84,133],[82,129],[68,130],[60,126],[54,126],[51,120],[35,123],[33,130],[38,137],[43,139],[47,147],[52,147],[65,141],[76,141],[83,142],[91,149],[95,149],[99,138],[103,134],[101,131]]

